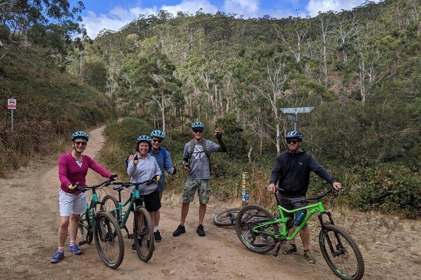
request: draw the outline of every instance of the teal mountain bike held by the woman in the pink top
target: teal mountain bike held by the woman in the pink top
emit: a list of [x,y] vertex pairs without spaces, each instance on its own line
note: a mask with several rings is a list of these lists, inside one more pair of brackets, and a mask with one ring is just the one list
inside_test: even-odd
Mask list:
[[95,238],[95,247],[101,260],[112,269],[118,268],[124,258],[124,240],[121,229],[110,213],[99,210],[96,206],[102,204],[99,201],[96,189],[103,185],[109,184],[110,181],[102,182],[94,186],[78,186],[76,191],[85,192],[90,189],[92,191],[92,200],[87,205],[86,212],[79,217],[79,231],[84,241],[79,245],[90,244]]

